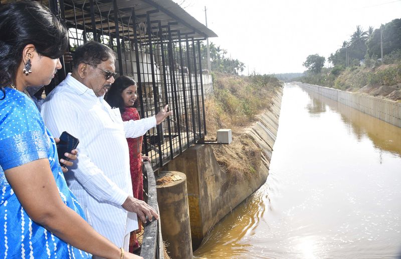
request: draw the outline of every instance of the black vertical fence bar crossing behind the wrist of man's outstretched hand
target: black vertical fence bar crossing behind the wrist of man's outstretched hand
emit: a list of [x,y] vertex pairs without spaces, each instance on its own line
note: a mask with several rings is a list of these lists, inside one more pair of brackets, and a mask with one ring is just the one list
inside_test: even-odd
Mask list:
[[[159,98],[159,88],[158,86],[156,87],[156,79],[154,76],[154,61],[153,61],[153,46],[152,46],[152,25],[150,23],[150,14],[147,12],[146,14],[146,23],[147,23],[147,36],[148,36],[148,44],[149,44],[149,54],[150,54],[150,69],[152,73],[152,87],[153,87],[153,99],[154,99],[154,113],[157,114],[159,112],[159,107],[158,107],[158,98]],[[161,143],[160,143],[160,138],[163,135],[163,132],[161,130],[161,124],[156,126],[157,129],[157,144],[158,144],[158,150],[159,150],[159,166],[163,166],[163,155],[161,152]]]

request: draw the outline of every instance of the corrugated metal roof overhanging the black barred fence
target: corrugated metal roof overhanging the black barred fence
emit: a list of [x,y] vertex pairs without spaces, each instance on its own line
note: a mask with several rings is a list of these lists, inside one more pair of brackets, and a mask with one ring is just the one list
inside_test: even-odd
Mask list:
[[[1,4],[15,2],[15,0],[0,0]],[[69,26],[83,25],[90,30],[91,12],[90,0],[64,0],[65,19]],[[94,14],[96,28],[114,33],[113,0],[94,0]],[[41,2],[47,4],[47,1]],[[75,7],[75,8],[74,8]],[[178,4],[170,0],[117,0],[120,22],[127,23],[131,17],[132,8],[135,10],[138,22],[146,23],[146,13],[150,12],[150,21],[160,21],[163,26],[170,24],[172,31],[181,35],[188,35],[194,39],[218,37],[212,30],[190,16]],[[85,22],[84,22],[85,20]],[[120,26],[120,30],[122,27]],[[130,28],[124,28],[129,30]]]

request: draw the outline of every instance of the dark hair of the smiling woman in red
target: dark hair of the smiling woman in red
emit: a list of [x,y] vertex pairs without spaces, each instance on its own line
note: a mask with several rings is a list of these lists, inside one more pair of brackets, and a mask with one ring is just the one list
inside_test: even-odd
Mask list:
[[[132,85],[136,85],[136,82],[131,77],[120,76],[114,81],[113,84],[111,84],[111,87],[104,99],[111,107],[118,107],[122,114],[125,111],[125,105],[121,94],[127,87]],[[133,106],[136,107],[137,104],[138,98],[136,98]]]

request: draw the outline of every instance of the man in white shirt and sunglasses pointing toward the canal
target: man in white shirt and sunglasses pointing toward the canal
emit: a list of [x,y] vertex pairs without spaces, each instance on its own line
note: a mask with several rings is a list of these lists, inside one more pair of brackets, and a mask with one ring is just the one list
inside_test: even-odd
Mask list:
[[[54,136],[63,131],[80,140],[78,159],[66,174],[68,186],[82,205],[88,222],[117,246],[128,249],[129,233],[157,213],[132,195],[126,138],[143,135],[167,116],[123,122],[118,108],[103,96],[114,82],[114,52],[89,42],[76,49],[72,74],[46,97],[42,116]],[[68,116],[66,116],[68,114]]]

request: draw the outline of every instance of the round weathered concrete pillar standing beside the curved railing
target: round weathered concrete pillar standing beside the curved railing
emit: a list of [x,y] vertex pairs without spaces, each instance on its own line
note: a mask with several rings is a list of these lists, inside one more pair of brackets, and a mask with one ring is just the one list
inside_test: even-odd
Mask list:
[[172,259],[192,258],[186,176],[181,172],[164,171],[156,177],[156,182],[163,179],[165,183],[157,185],[157,203],[167,251]]

